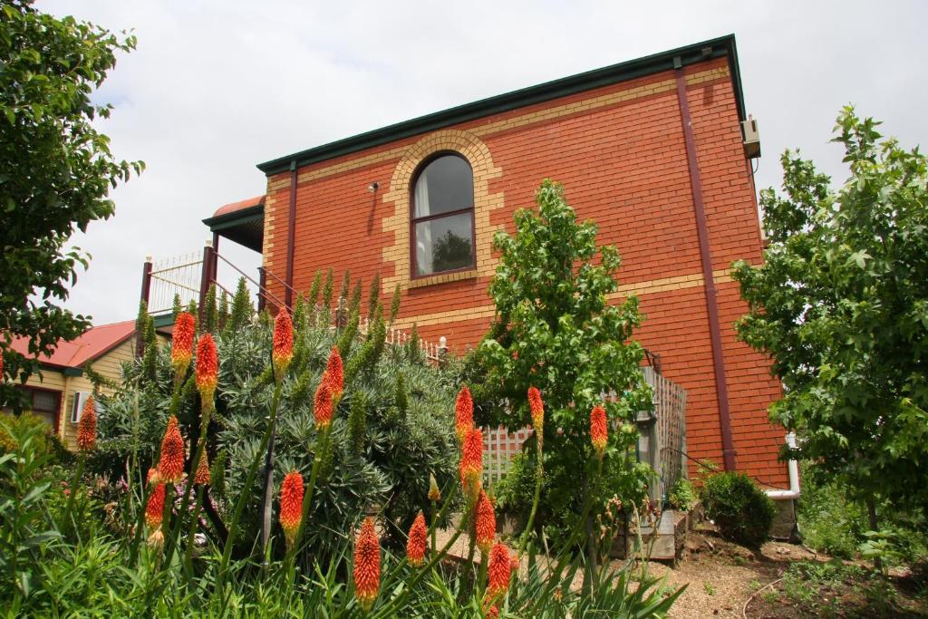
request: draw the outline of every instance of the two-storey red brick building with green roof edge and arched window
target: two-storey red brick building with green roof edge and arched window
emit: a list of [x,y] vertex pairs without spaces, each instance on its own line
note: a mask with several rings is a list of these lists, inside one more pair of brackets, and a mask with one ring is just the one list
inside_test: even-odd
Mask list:
[[317,269],[380,273],[403,290],[401,327],[463,351],[494,313],[494,231],[558,180],[622,254],[615,301],[638,295],[638,340],[687,390],[690,455],[785,488],[784,432],[767,420],[780,385],[733,330],[746,308],[729,265],[762,253],[746,120],[727,36],[261,163],[265,196],[205,221],[295,290]]

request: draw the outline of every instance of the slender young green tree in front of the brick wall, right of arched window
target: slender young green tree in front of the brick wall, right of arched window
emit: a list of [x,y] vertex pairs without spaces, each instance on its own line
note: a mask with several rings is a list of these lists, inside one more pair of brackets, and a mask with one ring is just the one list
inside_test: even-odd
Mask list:
[[[598,496],[599,505],[615,495],[641,496],[646,473],[635,459],[635,417],[651,407],[651,391],[640,368],[642,348],[631,339],[641,320],[638,299],[618,303],[614,295],[618,251],[612,245],[597,251],[597,226],[577,222],[561,185],[545,180],[535,200],[537,209],[515,214],[514,236],[499,232],[494,239],[501,251],[490,284],[496,316],[465,380],[472,382],[479,421],[513,431],[530,417],[524,394],[540,390],[548,411],[542,431],[548,478],[539,521],[557,519],[570,528],[586,496]],[[604,397],[610,392],[617,398]],[[589,435],[595,406],[619,429],[601,445],[610,471],[601,477]],[[528,445],[536,451],[535,439]]]

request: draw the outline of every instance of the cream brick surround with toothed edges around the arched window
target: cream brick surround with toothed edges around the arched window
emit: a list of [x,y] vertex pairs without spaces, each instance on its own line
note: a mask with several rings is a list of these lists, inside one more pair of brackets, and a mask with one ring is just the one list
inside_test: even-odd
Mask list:
[[[451,150],[470,162],[473,170],[473,218],[477,246],[477,275],[493,275],[496,268],[492,256],[493,235],[502,226],[490,226],[490,213],[503,207],[503,192],[490,193],[490,180],[503,175],[501,168],[493,164],[490,149],[469,131],[445,130],[426,135],[406,149],[393,170],[390,190],[383,194],[384,204],[393,204],[393,215],[384,217],[384,232],[393,232],[393,245],[383,248],[383,262],[393,263],[393,276],[383,278],[384,290],[391,290],[397,283],[406,290],[410,283],[409,264],[409,197],[412,195],[413,174],[419,165],[436,152]],[[451,281],[459,277],[435,276],[436,282]],[[429,278],[432,279],[431,277]],[[417,280],[417,283],[419,280]]]

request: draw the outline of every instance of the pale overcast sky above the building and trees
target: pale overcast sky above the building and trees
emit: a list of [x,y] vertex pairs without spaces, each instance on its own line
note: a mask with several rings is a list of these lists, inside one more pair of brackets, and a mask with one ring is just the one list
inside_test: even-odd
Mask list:
[[148,170],[114,191],[115,218],[74,238],[93,261],[68,305],[96,324],[135,316],[147,254],[200,251],[201,219],[264,193],[258,162],[729,32],[760,123],[758,187],[780,186],[780,153],[795,147],[844,180],[829,139],[846,103],[928,148],[928,3],[916,0],[37,6],[138,37],[97,94],[115,106],[99,126]]

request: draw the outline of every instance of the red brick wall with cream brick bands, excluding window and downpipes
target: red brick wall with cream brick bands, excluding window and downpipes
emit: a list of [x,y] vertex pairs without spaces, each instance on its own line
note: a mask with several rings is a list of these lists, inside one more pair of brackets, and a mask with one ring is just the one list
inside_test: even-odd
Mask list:
[[[761,239],[749,162],[724,58],[685,70],[702,173],[703,199],[718,289],[720,321],[739,469],[785,487],[776,461],[784,432],[767,420],[780,393],[768,363],[735,339],[745,311],[728,266],[758,262]],[[512,213],[534,203],[541,179],[560,181],[580,218],[599,224],[599,243],[623,257],[615,300],[638,294],[646,321],[638,339],[662,355],[664,375],[688,393],[688,445],[695,458],[721,463],[712,348],[699,240],[673,71],[487,116],[297,171],[294,287],[307,290],[316,269],[345,269],[383,292],[403,289],[399,326],[416,323],[426,339],[445,336],[463,352],[480,341],[493,305],[493,232],[512,232]],[[410,280],[409,195],[419,163],[454,149],[474,171],[477,266],[468,273]],[[368,185],[377,181],[376,194]],[[284,277],[290,173],[268,177],[264,266]],[[336,286],[338,280],[336,281]],[[272,288],[273,290],[273,288]],[[367,290],[367,289],[366,289]],[[280,295],[280,290],[273,290]]]

